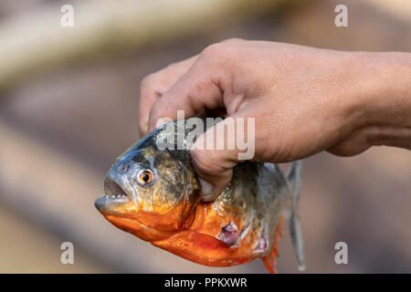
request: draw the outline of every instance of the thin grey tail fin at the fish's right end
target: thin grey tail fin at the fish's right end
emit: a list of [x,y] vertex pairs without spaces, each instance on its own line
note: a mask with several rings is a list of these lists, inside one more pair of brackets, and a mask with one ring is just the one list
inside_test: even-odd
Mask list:
[[294,252],[297,256],[299,270],[305,270],[304,244],[302,242],[302,231],[300,224],[300,183],[302,162],[292,162],[287,181],[290,186],[291,210],[288,218],[290,237]]

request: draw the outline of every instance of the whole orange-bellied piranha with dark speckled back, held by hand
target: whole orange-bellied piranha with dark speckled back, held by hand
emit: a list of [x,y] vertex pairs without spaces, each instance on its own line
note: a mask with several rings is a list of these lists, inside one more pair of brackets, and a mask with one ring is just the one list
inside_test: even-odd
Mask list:
[[165,124],[125,151],[107,174],[97,209],[121,230],[195,263],[235,266],[262,258],[270,273],[277,273],[279,237],[287,220],[304,270],[301,162],[291,163],[287,174],[274,163],[239,163],[227,189],[215,201],[202,202],[190,157],[192,142],[184,140],[183,149],[159,143],[164,137],[177,138],[179,130],[188,137],[192,129],[187,121],[198,127],[198,120],[183,120],[183,127],[182,120]]

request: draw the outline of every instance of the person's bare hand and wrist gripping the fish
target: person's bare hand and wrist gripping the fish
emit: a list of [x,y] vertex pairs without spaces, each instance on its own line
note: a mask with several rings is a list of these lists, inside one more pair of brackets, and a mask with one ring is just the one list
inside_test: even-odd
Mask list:
[[[142,80],[142,134],[164,118],[176,120],[177,110],[185,118],[216,111],[255,118],[256,162],[320,151],[353,156],[374,145],[411,150],[411,54],[229,39]],[[212,201],[230,181],[238,150],[196,148],[203,200]]]

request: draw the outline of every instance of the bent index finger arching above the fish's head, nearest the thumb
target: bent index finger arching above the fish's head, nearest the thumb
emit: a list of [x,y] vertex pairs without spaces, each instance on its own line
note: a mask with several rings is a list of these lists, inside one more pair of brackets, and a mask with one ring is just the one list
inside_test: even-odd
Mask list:
[[148,129],[151,131],[160,126],[159,120],[177,120],[177,110],[184,110],[186,119],[206,109],[224,107],[220,76],[217,68],[198,58],[174,86],[154,102]]

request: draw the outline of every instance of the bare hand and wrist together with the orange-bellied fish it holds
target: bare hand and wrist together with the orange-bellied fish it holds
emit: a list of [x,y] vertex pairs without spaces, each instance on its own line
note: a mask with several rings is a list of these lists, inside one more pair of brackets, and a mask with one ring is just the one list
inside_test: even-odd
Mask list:
[[[303,270],[301,163],[284,173],[269,162],[324,150],[354,155],[379,144],[410,149],[410,85],[406,53],[237,39],[207,47],[144,79],[140,128],[150,133],[114,162],[95,205],[111,224],[195,263],[261,258],[271,273],[287,220]],[[206,125],[195,118],[213,116],[227,119]],[[210,131],[218,141],[238,140],[239,121],[237,135],[218,130],[229,118],[254,119],[251,162],[238,163],[240,147],[204,148]]]

